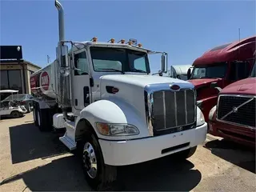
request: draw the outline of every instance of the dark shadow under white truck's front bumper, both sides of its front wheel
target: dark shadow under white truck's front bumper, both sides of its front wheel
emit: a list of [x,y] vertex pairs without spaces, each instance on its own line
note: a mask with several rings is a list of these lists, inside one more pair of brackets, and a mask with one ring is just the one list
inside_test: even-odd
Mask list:
[[[171,162],[158,159],[135,166],[125,166],[118,170],[118,184],[122,190],[147,191],[190,191],[202,175],[198,170],[191,170],[191,162]],[[78,158],[74,156],[59,158],[33,170],[6,178],[0,183],[22,179],[32,191],[88,191]]]

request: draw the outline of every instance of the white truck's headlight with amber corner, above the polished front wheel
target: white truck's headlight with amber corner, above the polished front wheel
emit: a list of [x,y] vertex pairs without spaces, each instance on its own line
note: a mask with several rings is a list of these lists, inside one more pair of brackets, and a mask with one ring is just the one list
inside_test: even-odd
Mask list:
[[127,136],[139,134],[138,128],[129,124],[111,124],[105,122],[97,122],[96,127],[100,134],[109,136]]

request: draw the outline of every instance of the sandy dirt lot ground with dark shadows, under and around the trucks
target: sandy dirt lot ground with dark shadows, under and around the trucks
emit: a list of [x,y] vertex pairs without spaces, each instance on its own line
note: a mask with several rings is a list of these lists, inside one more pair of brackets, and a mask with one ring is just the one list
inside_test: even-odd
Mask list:
[[[32,120],[31,113],[0,121],[0,191],[90,190],[78,158]],[[126,166],[119,178],[126,190],[256,191],[255,154],[207,136],[188,161]]]

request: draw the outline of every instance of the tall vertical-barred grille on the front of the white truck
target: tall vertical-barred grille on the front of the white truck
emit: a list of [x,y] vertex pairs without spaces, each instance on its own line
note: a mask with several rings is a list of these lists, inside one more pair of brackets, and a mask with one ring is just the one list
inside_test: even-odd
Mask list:
[[155,91],[151,114],[153,129],[160,131],[192,125],[195,109],[194,90]]

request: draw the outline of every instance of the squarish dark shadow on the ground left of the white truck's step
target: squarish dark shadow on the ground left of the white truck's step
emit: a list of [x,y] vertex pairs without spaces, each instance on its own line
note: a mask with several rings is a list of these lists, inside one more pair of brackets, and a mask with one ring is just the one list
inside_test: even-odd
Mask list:
[[13,164],[68,153],[66,147],[59,142],[58,134],[41,132],[34,126],[34,122],[11,126],[9,133]]

